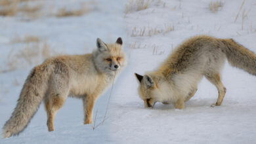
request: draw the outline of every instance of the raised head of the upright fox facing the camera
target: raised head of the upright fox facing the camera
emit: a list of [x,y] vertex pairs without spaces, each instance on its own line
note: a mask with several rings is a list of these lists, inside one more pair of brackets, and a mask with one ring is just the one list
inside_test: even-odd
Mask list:
[[126,65],[121,37],[114,44],[106,44],[101,39],[96,40],[97,49],[94,52],[96,68],[104,73],[115,73]]

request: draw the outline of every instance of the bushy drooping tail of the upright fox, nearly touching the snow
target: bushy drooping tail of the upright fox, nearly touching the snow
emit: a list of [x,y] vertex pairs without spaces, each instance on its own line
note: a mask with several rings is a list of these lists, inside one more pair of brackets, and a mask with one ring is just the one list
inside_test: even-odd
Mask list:
[[3,137],[18,135],[28,126],[45,96],[50,75],[51,69],[47,63],[32,69],[20,92],[20,98],[11,118],[3,126]]

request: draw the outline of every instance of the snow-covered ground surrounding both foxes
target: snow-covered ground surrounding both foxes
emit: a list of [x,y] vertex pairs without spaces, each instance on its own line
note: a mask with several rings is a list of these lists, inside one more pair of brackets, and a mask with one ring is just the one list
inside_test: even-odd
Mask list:
[[[232,38],[256,52],[256,2],[245,0],[240,11],[242,0],[225,0],[215,12],[209,10],[211,2],[216,1],[154,0],[147,9],[137,10],[135,0],[96,0],[91,12],[78,17],[0,17],[0,71],[16,63],[13,71],[0,73],[0,126],[10,117],[30,69],[44,58],[41,54],[32,57],[32,62],[26,60],[22,50],[28,45],[13,43],[15,37],[36,35],[42,41],[40,46],[46,41],[51,47],[51,55],[91,52],[96,37],[106,43],[123,37],[129,58],[114,84],[103,126],[93,130],[92,125],[83,125],[81,99],[70,98],[56,115],[54,132],[47,132],[47,116],[41,105],[24,132],[0,139],[0,143],[256,143],[256,77],[227,62],[222,73],[227,92],[221,107],[210,107],[217,100],[217,90],[205,79],[183,110],[161,103],[145,109],[137,92],[134,73],[156,69],[177,45],[193,35]],[[77,3],[45,1],[55,9],[77,7]],[[109,96],[110,90],[96,102],[98,122],[104,117]]]

